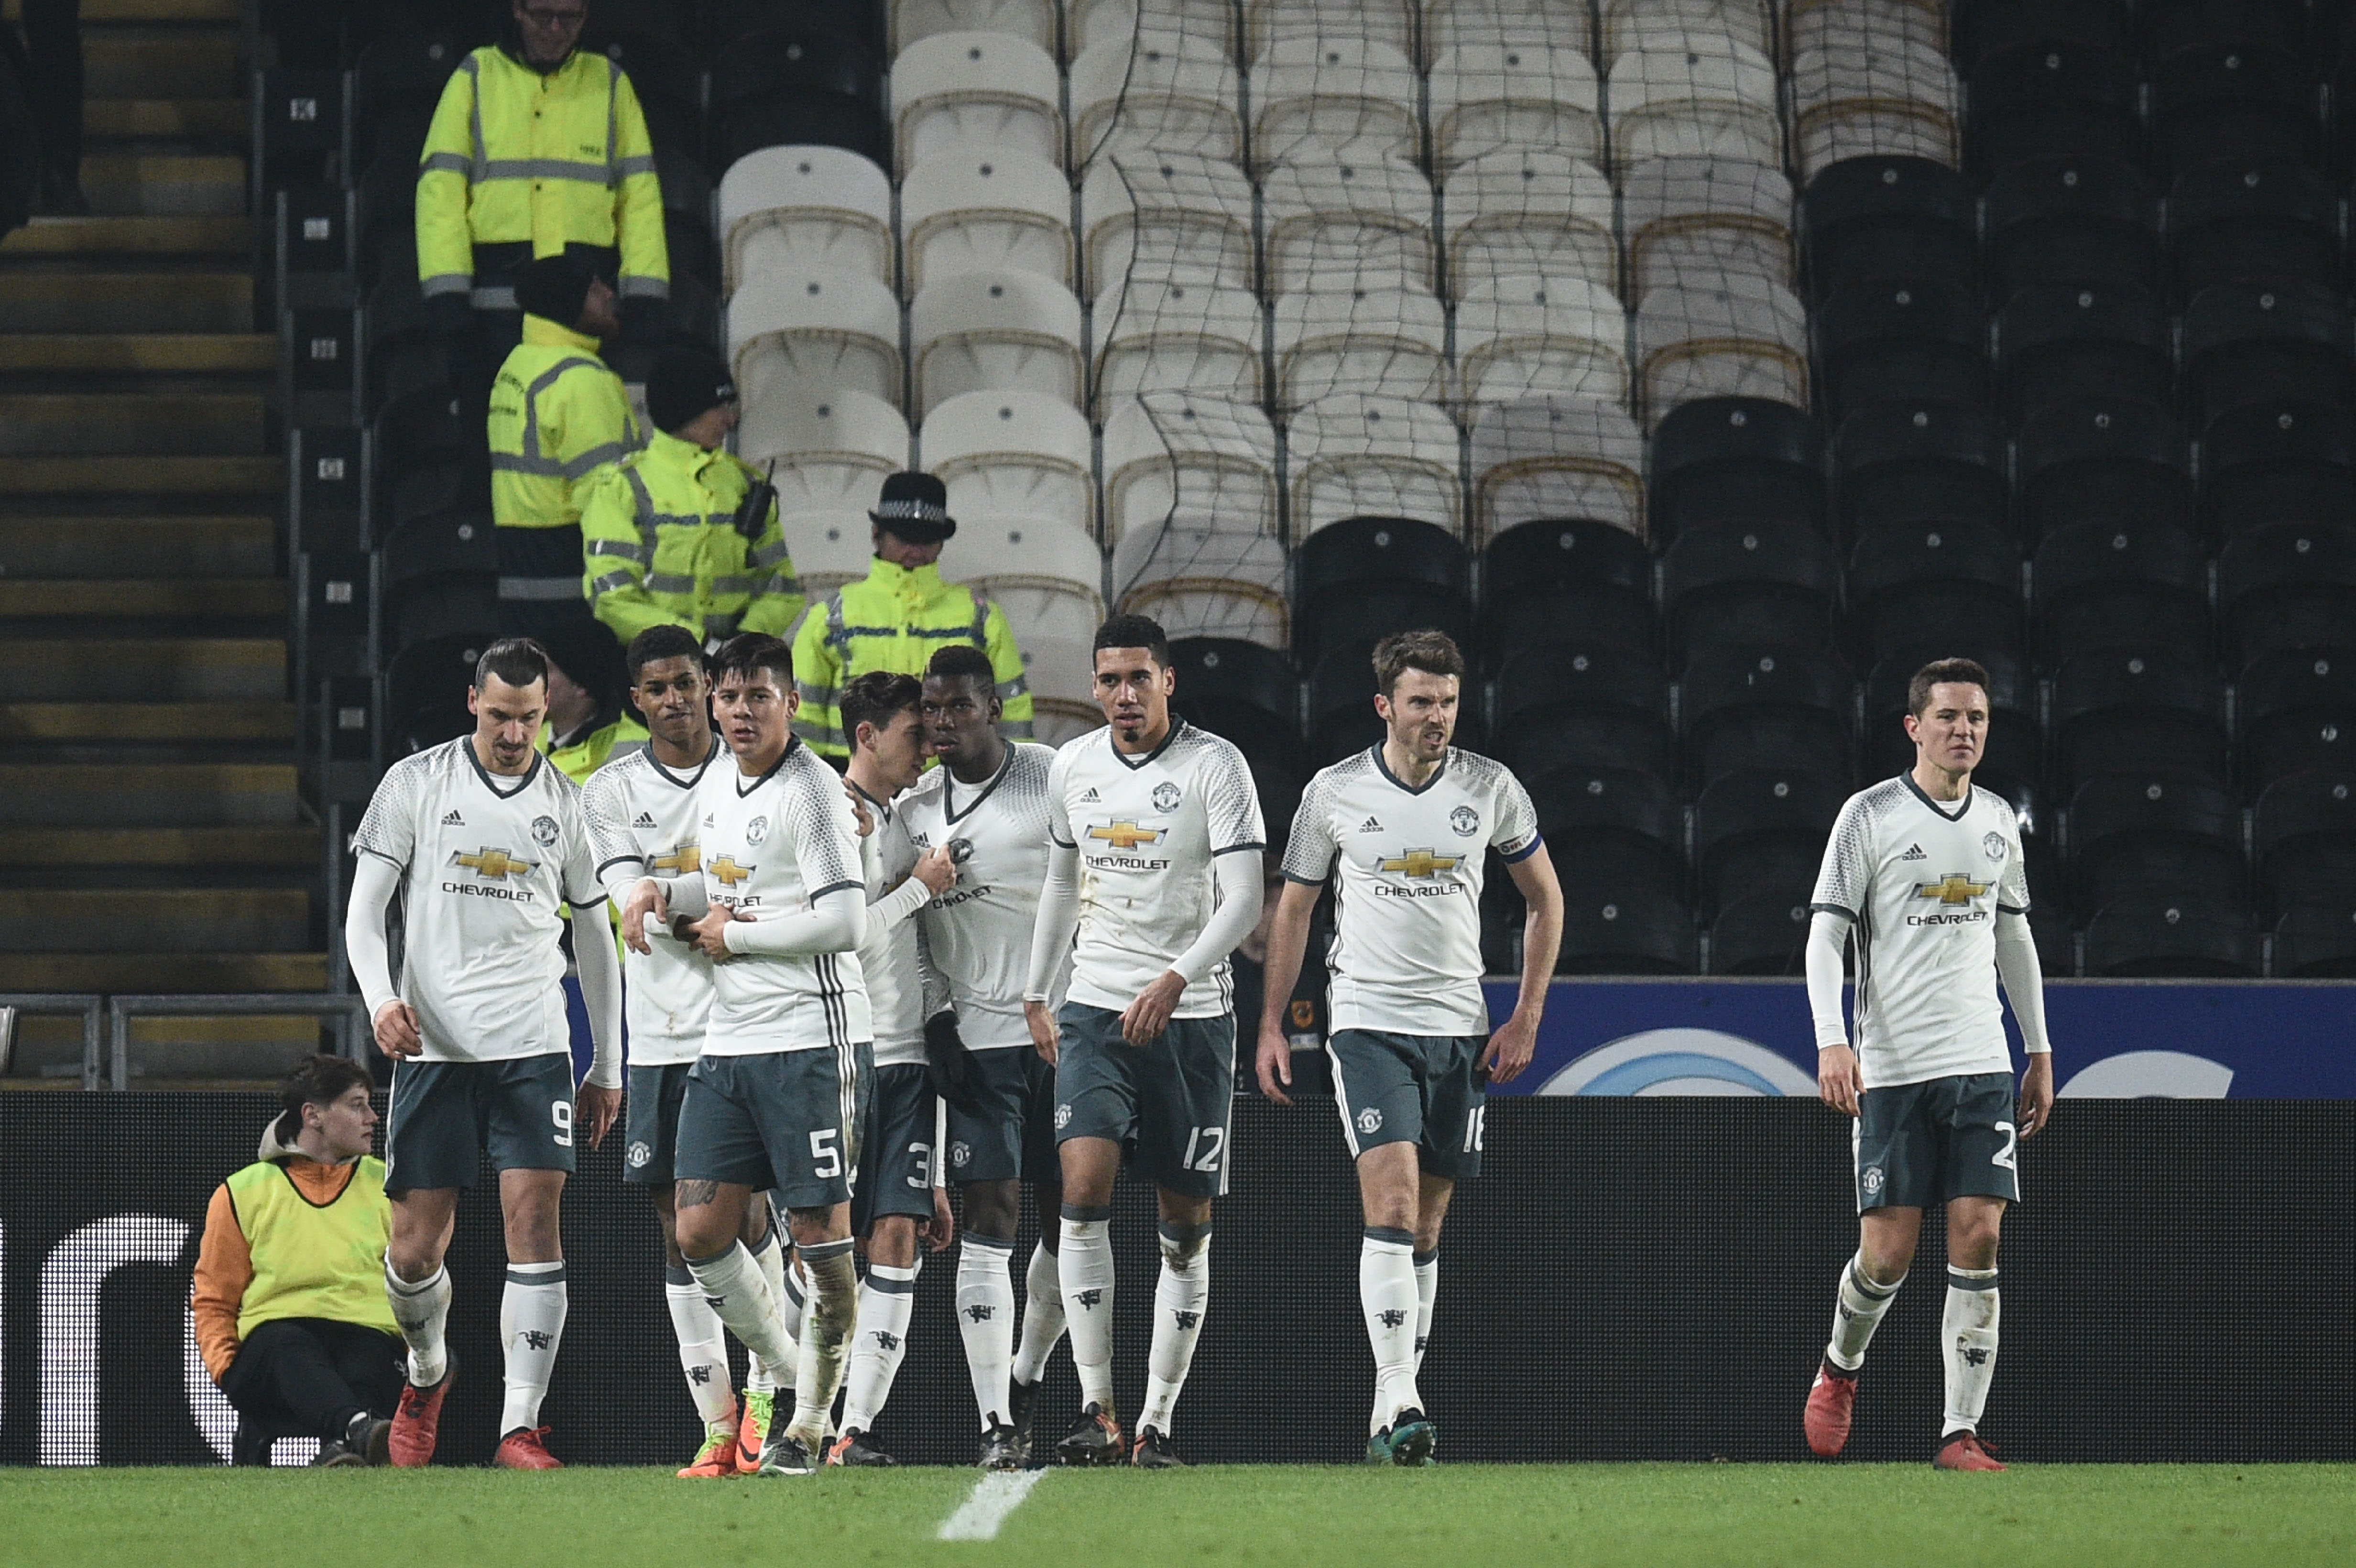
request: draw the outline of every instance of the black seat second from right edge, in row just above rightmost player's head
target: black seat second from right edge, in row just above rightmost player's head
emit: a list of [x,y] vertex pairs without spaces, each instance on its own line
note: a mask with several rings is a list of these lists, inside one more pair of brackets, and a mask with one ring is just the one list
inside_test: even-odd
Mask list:
[[2031,577],[2038,647],[2050,664],[2127,643],[2210,645],[2208,560],[2170,523],[2057,527],[2038,546]]

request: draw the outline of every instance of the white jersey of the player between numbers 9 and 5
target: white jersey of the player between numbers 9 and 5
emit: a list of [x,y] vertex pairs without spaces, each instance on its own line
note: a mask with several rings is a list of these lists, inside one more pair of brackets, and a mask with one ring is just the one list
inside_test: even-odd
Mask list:
[[[712,768],[733,768],[719,742],[693,772],[671,772],[646,746],[617,756],[582,784],[582,812],[608,897],[629,899],[641,876],[702,869],[697,786]],[[681,1067],[704,1050],[712,1015],[712,961],[660,921],[646,923],[648,954],[622,949],[622,1001],[631,1067]]]

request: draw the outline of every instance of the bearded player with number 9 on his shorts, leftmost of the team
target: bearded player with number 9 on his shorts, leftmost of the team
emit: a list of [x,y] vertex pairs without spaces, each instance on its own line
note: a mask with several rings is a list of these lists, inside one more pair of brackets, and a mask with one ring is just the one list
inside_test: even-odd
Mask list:
[[[358,866],[344,949],[377,1048],[393,1057],[384,1293],[410,1347],[393,1464],[434,1457],[455,1373],[443,1255],[457,1198],[488,1154],[507,1217],[507,1401],[495,1462],[556,1469],[540,1401],[565,1330],[558,1203],[575,1137],[587,1135],[594,1149],[622,1109],[622,965],[580,791],[532,746],[547,706],[549,664],[537,643],[485,647],[466,692],[474,732],[393,763],[351,841]],[[396,892],[398,984],[384,930]],[[594,1043],[577,1095],[558,904],[573,906]]]

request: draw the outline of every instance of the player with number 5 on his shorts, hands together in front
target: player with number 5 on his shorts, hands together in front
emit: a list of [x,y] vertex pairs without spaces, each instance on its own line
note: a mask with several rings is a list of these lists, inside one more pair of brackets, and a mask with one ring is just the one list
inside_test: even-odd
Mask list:
[[763,1361],[794,1354],[777,1293],[737,1238],[756,1191],[775,1189],[810,1276],[792,1424],[773,1422],[759,1474],[818,1469],[858,1314],[851,1182],[874,1031],[858,944],[867,881],[841,777],[794,739],[794,652],[740,633],[714,655],[712,706],[733,768],[697,786],[697,876],[646,878],[622,939],[646,921],[693,921],[712,958],[704,1050],[679,1107],[679,1250],[721,1323]]

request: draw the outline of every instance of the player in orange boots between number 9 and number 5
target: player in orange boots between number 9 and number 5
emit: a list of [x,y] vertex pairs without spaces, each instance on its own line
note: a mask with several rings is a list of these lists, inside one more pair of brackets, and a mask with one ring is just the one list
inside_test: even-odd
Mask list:
[[[648,744],[605,763],[582,786],[582,812],[598,857],[598,881],[622,902],[643,876],[688,876],[700,862],[695,789],[712,760],[726,756],[712,735],[712,680],[704,676],[702,643],[686,626],[648,626],[622,655],[629,702],[646,720]],[[629,1099],[622,1180],[646,1187],[662,1227],[662,1300],[679,1337],[679,1366],[688,1396],[704,1420],[695,1460],[679,1471],[688,1479],[749,1474],[761,1462],[761,1441],[775,1408],[777,1384],[792,1387],[794,1368],[773,1368],[759,1356],[744,1377],[744,1406],[728,1384],[728,1344],[719,1314],[679,1255],[671,1208],[671,1156],[676,1154],[679,1102],[688,1092],[688,1069],[704,1045],[712,1012],[712,961],[693,942],[667,928],[648,932],[648,954],[622,958],[624,1017],[629,1019]],[[766,1201],[744,1210],[742,1241],[785,1290],[785,1253]],[[796,1311],[789,1304],[789,1326]]]

